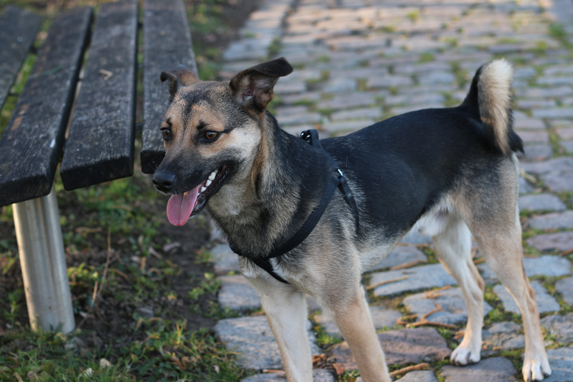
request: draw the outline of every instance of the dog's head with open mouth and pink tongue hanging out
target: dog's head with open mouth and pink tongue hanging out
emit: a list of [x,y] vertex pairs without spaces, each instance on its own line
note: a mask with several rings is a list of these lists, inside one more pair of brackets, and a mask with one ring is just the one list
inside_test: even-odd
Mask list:
[[225,182],[250,171],[274,84],[292,70],[281,57],[229,82],[201,81],[187,69],[161,73],[162,81],[169,80],[171,104],[161,126],[166,154],[153,183],[172,195],[167,203],[172,224],[185,224]]

